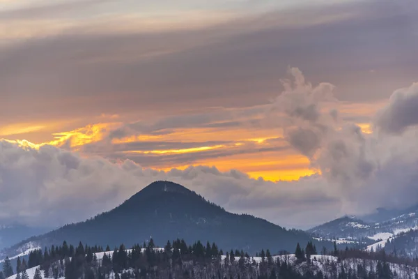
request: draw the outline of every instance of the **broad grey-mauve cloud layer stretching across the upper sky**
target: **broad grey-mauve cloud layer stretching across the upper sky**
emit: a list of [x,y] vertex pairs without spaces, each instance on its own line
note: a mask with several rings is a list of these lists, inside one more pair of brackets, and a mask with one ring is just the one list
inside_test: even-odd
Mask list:
[[[275,97],[277,75],[288,65],[300,66],[313,80],[332,81],[341,100],[380,100],[384,91],[371,89],[395,89],[414,78],[418,45],[410,33],[416,17],[380,1],[318,9],[242,16],[188,30],[147,31],[136,17],[111,24],[76,17],[77,27],[46,21],[51,34],[28,20],[28,28],[37,26],[35,35],[0,46],[0,94],[6,99],[0,110],[26,121],[33,114],[69,119],[135,112],[143,118],[247,107]],[[5,38],[16,30],[3,26]],[[27,32],[22,27],[16,33]],[[370,68],[376,68],[372,77]]]

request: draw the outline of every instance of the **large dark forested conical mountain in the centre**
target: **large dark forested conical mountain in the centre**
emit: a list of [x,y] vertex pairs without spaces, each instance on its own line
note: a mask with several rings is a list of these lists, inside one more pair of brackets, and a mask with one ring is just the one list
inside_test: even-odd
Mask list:
[[[110,247],[125,243],[130,247],[150,237],[160,246],[167,239],[180,238],[188,243],[215,241],[224,249],[247,252],[262,248],[293,251],[297,242],[306,245],[311,240],[306,232],[287,230],[247,214],[229,213],[179,184],[156,181],[109,212],[32,237],[6,252],[13,255],[28,243],[31,247],[44,247],[64,240],[75,245],[82,241]],[[327,244],[316,243],[318,247]]]

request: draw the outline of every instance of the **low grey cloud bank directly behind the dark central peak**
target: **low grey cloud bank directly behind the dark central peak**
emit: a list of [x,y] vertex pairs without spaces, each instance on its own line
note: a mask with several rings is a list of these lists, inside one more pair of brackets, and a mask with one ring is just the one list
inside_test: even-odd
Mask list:
[[161,179],[181,183],[232,211],[258,216],[275,212],[270,220],[281,225],[301,222],[288,219],[292,217],[288,211],[293,209],[296,214],[301,202],[321,212],[317,219],[303,223],[306,227],[330,217],[339,205],[316,176],[294,183],[273,183],[250,179],[236,170],[220,172],[205,166],[162,172],[143,168],[132,160],[110,163],[104,158],[82,158],[54,146],[33,149],[1,140],[0,219],[29,225],[84,220],[112,209],[148,183]]

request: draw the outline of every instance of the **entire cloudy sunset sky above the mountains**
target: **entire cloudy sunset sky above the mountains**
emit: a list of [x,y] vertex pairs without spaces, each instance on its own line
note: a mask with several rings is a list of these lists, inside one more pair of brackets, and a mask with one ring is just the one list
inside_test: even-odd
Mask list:
[[415,0],[0,0],[0,220],[171,180],[308,228],[418,204]]

